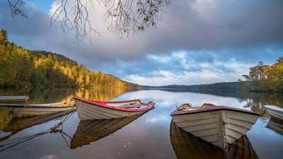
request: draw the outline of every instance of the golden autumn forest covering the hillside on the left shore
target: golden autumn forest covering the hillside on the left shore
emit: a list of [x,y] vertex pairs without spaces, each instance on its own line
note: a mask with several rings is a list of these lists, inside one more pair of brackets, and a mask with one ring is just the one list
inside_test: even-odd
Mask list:
[[5,30],[0,30],[0,68],[0,88],[140,87],[101,71],[89,71],[61,54],[23,49],[8,42]]

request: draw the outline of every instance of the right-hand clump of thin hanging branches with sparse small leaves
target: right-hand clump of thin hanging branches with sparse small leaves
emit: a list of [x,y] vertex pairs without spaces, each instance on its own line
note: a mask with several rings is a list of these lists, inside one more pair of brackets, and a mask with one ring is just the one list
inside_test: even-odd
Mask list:
[[[144,1],[144,2],[143,2]],[[145,28],[156,26],[156,20],[161,20],[164,6],[168,6],[171,0],[117,0],[113,1],[111,8],[105,13],[107,18],[111,18],[108,30],[119,37],[126,33],[137,33]],[[124,5],[122,3],[125,3]],[[135,9],[135,10],[133,10]]]

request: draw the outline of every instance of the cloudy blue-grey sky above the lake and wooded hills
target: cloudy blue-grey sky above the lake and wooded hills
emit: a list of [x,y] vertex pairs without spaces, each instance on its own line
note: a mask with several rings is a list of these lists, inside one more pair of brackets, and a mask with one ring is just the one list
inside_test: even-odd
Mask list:
[[271,65],[283,57],[282,0],[171,1],[156,27],[124,38],[107,30],[106,9],[95,1],[88,12],[100,35],[92,33],[91,42],[79,45],[74,32],[63,33],[51,20],[58,0],[25,2],[28,18],[13,18],[8,0],[0,0],[0,30],[10,42],[144,86],[244,80],[260,61]]

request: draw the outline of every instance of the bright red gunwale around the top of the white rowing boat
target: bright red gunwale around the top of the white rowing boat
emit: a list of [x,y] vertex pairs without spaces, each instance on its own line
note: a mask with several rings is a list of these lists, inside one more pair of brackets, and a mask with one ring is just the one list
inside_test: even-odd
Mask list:
[[[103,102],[103,100],[87,100],[80,97],[74,97],[74,100],[79,100],[79,102],[85,102],[89,105],[97,106],[97,107],[103,107],[110,110],[117,110],[122,112],[146,112],[148,110],[154,109],[155,102],[149,101],[147,104],[141,102],[141,100],[121,100],[121,101],[104,101],[105,105],[100,104],[99,102]],[[147,107],[143,108],[127,108],[127,107],[115,107],[111,105],[106,105],[106,103],[120,103],[120,102],[131,102],[131,101],[139,101],[141,105],[147,105]],[[80,104],[77,105],[79,107]]]

